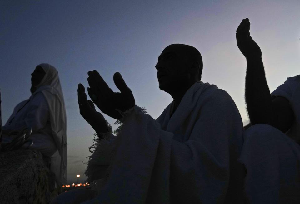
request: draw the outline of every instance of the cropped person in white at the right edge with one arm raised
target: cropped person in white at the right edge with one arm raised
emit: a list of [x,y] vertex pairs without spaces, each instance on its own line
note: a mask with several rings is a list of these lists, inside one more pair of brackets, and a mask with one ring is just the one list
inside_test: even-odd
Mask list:
[[249,30],[246,18],[236,34],[247,59],[245,98],[252,124],[240,158],[247,169],[245,190],[251,203],[300,203],[300,75],[270,93],[262,52]]

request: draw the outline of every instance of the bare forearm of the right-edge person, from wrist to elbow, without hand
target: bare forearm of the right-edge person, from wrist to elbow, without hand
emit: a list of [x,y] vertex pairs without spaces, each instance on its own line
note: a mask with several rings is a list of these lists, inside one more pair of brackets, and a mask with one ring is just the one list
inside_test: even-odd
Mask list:
[[261,56],[247,59],[245,99],[251,123],[271,124],[272,99]]

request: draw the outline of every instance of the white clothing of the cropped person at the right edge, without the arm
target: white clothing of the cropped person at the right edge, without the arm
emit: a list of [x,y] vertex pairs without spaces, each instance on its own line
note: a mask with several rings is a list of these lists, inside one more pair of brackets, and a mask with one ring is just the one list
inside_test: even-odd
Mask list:
[[266,124],[245,131],[240,157],[247,169],[245,190],[251,203],[300,203],[300,75],[288,77],[271,93],[286,98],[294,121],[286,134]]

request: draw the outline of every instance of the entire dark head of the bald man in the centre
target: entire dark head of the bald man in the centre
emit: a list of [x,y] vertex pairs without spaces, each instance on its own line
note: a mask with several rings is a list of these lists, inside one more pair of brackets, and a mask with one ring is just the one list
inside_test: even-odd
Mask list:
[[172,44],[158,57],[155,68],[159,88],[171,93],[201,80],[202,57],[192,46]]

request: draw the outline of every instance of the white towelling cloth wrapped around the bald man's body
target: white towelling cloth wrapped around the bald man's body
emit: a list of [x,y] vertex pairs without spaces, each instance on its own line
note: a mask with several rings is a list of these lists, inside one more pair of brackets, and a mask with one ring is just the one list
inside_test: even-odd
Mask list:
[[97,147],[99,166],[109,145],[117,149],[98,196],[85,203],[243,202],[243,126],[232,98],[199,81],[170,118],[172,106],[157,120],[137,106],[124,113],[116,139]]

